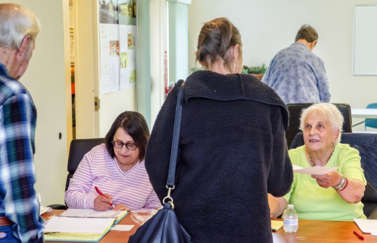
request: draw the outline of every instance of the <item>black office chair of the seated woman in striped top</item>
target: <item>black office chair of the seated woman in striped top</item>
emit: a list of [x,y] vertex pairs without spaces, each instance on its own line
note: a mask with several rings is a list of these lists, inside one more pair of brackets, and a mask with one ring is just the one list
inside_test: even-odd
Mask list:
[[[73,177],[78,164],[80,164],[84,155],[89,152],[93,147],[104,143],[104,138],[99,139],[74,139],[71,141],[69,146],[69,155],[67,163],[67,180],[65,183],[65,191],[67,191],[69,186],[69,180]],[[52,209],[67,209],[68,207],[63,204],[52,204],[49,205]]]

